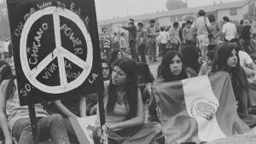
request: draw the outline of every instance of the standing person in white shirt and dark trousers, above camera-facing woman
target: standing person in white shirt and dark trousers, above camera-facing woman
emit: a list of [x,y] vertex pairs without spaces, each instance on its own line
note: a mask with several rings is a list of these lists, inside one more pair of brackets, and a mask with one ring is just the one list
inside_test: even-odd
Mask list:
[[159,55],[163,56],[164,51],[166,50],[166,44],[170,39],[169,33],[165,31],[165,27],[160,27],[160,34],[158,36],[159,45]]

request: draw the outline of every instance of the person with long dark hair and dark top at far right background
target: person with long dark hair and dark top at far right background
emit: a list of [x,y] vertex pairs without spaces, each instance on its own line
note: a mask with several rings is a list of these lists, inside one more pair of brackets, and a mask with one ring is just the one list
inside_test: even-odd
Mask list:
[[251,26],[243,26],[241,30],[241,36],[239,40],[239,44],[241,46],[241,50],[247,52],[247,54],[251,55],[253,52],[255,52],[255,48],[253,48],[252,43],[252,35],[253,29]]

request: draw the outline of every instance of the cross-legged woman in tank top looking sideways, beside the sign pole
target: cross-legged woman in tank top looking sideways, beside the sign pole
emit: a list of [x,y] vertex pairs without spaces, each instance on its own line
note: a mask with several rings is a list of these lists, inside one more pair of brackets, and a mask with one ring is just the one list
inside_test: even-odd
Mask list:
[[[121,58],[113,66],[110,81],[105,82],[103,100],[108,142],[148,144],[160,133],[161,127],[155,122],[144,124],[143,98],[137,86],[137,64],[129,58]],[[96,125],[99,125],[99,115]],[[99,130],[93,134],[95,144],[100,143]]]

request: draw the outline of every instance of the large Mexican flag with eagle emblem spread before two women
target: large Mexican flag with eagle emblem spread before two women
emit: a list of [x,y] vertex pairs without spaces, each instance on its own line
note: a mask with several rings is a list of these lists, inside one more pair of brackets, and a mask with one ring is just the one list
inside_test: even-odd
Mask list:
[[236,113],[226,72],[154,84],[153,94],[168,144],[208,142],[249,130]]

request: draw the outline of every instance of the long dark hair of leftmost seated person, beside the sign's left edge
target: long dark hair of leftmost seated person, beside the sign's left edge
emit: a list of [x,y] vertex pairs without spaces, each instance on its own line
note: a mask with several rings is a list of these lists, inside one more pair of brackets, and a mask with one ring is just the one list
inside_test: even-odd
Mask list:
[[9,65],[4,66],[0,74],[1,74],[1,82],[3,82],[3,80],[9,80],[6,87],[6,91],[4,92],[5,99],[6,100],[12,99],[15,95],[16,86],[15,86],[15,77],[12,74],[10,66]]

